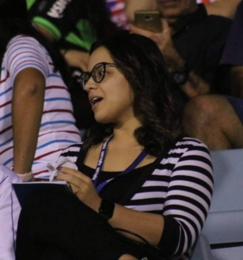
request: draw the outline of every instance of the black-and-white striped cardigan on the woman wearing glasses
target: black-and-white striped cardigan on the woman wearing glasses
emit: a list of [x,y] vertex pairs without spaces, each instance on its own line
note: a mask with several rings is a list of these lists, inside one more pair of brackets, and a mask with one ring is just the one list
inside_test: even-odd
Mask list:
[[[81,146],[72,145],[61,154],[61,157],[75,162],[79,169],[82,166],[78,165],[77,158],[81,156]],[[83,173],[89,176],[87,172]],[[102,173],[107,175],[107,179],[114,176],[114,172]],[[124,186],[123,177],[118,178],[123,192],[136,181],[134,176],[130,176],[130,181],[127,178]],[[107,190],[111,191],[112,181],[109,185]],[[116,192],[120,192],[119,187],[115,187]],[[184,137],[159,158],[147,180],[134,190],[124,206],[163,215],[166,221],[158,246],[172,259],[188,260],[207,217],[212,192],[212,162],[208,148],[197,139]]]

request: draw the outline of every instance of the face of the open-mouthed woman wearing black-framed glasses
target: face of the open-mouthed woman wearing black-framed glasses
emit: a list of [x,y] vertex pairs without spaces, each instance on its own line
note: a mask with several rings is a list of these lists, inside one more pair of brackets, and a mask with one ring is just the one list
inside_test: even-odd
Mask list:
[[[104,47],[99,47],[91,54],[88,71],[91,72],[100,62],[114,64],[109,51]],[[104,79],[100,83],[96,83],[90,77],[85,85],[95,119],[102,124],[124,124],[134,118],[132,89],[119,68],[106,65],[105,72]]]

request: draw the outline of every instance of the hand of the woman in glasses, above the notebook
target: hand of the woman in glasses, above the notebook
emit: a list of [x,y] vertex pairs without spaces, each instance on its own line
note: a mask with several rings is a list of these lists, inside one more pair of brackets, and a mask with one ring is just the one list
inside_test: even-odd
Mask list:
[[70,183],[75,195],[88,207],[98,212],[101,198],[89,177],[77,170],[61,167],[57,179]]

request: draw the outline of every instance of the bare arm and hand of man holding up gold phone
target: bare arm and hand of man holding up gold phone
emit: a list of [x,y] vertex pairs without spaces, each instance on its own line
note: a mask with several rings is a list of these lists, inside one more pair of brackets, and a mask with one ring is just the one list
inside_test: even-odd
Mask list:
[[[165,19],[162,19],[162,28],[163,31],[161,33],[154,33],[137,28],[134,25],[130,25],[130,29],[133,33],[146,36],[158,45],[160,51],[165,58],[167,70],[169,72],[172,72],[177,68],[184,66],[185,61],[182,59],[182,57],[173,45],[173,41],[171,38],[171,29]],[[183,86],[181,86],[181,89],[186,93],[189,98],[192,98],[199,94],[208,93],[210,91],[210,86],[199,75],[191,70],[188,80]]]

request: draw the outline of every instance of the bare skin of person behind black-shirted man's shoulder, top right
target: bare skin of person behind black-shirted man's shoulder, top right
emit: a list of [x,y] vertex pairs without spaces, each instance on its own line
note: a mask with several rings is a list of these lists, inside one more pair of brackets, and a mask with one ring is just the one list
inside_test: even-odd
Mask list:
[[241,0],[218,0],[205,5],[209,15],[220,15],[228,18],[234,18],[235,10]]

